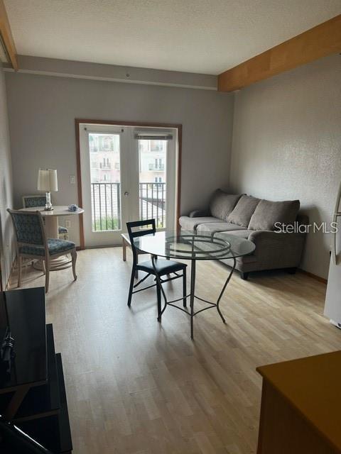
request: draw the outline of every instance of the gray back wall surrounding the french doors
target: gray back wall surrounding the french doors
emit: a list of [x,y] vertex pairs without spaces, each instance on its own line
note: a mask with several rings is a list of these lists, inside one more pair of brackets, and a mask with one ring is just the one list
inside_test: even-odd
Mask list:
[[[201,208],[226,187],[233,95],[200,89],[6,73],[14,200],[36,192],[38,167],[58,170],[55,204],[77,203],[75,118],[181,123],[181,213]],[[70,236],[79,241],[77,221]]]

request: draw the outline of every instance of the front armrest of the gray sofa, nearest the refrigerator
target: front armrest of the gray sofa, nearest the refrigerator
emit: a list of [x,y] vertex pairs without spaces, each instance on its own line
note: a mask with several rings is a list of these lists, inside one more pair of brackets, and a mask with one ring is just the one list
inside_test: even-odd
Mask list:
[[305,243],[305,233],[254,231],[249,240],[256,245],[254,255],[263,262],[262,269],[298,267]]

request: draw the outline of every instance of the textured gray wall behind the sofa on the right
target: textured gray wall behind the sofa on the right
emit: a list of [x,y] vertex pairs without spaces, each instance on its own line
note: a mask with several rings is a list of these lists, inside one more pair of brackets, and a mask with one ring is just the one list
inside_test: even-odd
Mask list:
[[[331,221],[341,182],[341,57],[318,60],[235,95],[230,183],[270,200],[300,199]],[[328,276],[330,236],[308,235],[302,267]]]

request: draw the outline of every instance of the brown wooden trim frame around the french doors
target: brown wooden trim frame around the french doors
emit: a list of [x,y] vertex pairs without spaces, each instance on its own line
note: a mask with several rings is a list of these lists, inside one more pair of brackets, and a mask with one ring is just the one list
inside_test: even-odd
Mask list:
[[[75,133],[76,133],[76,166],[77,166],[77,192],[78,192],[78,206],[82,208],[82,172],[80,168],[80,124],[97,124],[109,126],[141,126],[146,128],[174,128],[178,131],[178,165],[175,170],[176,178],[176,203],[175,203],[175,218],[176,226],[178,228],[178,218],[180,216],[180,195],[181,195],[181,152],[182,152],[182,133],[183,126],[174,123],[146,123],[145,121],[117,121],[117,120],[91,120],[89,118],[75,118]],[[78,216],[80,221],[80,249],[85,249],[84,237],[84,223],[83,215]]]

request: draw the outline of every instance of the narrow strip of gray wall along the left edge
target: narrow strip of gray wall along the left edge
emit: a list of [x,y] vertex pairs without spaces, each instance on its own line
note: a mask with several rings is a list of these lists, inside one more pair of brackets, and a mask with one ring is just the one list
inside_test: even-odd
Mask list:
[[13,207],[11,150],[4,71],[0,62],[0,260],[1,284],[9,279],[13,261],[13,231],[7,208]]

